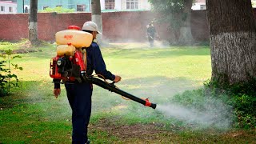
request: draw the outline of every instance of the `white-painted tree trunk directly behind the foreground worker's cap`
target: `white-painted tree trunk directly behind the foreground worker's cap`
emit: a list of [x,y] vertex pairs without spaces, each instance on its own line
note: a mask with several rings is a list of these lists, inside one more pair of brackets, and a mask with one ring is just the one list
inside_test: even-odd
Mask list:
[[[102,10],[101,10],[101,2],[100,0],[92,0],[91,1],[91,20],[98,25],[98,30],[102,32]],[[102,35],[97,35],[98,44],[102,42]]]

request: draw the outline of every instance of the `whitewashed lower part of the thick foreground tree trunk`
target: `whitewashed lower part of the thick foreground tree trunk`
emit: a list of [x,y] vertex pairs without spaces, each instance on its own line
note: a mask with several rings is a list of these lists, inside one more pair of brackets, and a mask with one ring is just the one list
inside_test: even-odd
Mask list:
[[256,76],[255,32],[230,32],[210,35],[212,78],[230,84]]

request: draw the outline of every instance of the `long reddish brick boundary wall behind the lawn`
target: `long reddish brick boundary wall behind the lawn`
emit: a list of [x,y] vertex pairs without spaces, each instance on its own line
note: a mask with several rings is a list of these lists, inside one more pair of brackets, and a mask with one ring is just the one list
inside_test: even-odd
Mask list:
[[[255,11],[255,10],[254,10]],[[146,25],[156,14],[151,11],[126,11],[102,13],[102,38],[109,42],[145,42]],[[1,14],[0,39],[4,41],[17,41],[28,38],[29,14]],[[83,23],[90,21],[90,13],[38,13],[38,38],[54,42],[54,34],[66,30],[70,25],[82,27]],[[166,24],[154,23],[161,38],[170,37]],[[191,14],[191,31],[196,41],[209,39],[206,10],[194,10]]]

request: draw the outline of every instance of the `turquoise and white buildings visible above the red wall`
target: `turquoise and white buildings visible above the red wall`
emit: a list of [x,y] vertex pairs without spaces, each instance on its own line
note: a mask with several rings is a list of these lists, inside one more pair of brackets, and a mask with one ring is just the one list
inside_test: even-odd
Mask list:
[[[62,6],[67,9],[74,9],[79,12],[90,12],[92,0],[38,0],[38,10],[47,7],[54,8]],[[138,11],[151,10],[148,0],[100,0],[102,12],[104,11]],[[17,2],[17,3],[16,3]],[[251,0],[253,7],[256,7],[256,0]],[[0,14],[27,13],[30,9],[30,0],[0,0]],[[12,7],[12,8],[10,8]],[[10,8],[10,10],[9,10]],[[196,0],[192,10],[206,10],[206,0]]]

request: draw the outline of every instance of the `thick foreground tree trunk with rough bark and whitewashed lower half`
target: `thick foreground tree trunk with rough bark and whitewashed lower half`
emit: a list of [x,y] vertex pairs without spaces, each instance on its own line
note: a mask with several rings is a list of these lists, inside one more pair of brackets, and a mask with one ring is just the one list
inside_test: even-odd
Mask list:
[[206,0],[212,82],[249,82],[256,77],[256,35],[250,1]]

